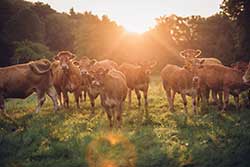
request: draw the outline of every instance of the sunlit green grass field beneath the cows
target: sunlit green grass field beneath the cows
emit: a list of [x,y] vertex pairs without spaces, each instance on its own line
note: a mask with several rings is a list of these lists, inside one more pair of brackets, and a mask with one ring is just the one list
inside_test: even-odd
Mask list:
[[211,106],[194,115],[189,104],[186,114],[177,95],[171,113],[160,79],[150,86],[148,116],[133,94],[120,130],[109,129],[99,100],[94,117],[89,101],[77,110],[71,98],[70,109],[53,113],[47,99],[35,114],[34,96],[9,100],[7,113],[19,128],[1,118],[0,167],[250,166],[249,109],[220,113]]

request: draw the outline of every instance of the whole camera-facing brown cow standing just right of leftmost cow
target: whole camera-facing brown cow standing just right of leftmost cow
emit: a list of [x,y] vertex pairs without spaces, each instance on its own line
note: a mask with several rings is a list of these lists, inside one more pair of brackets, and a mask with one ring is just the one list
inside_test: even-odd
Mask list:
[[[69,51],[60,51],[52,65],[53,83],[59,96],[60,105],[69,107],[68,92],[74,93],[77,108],[80,108],[81,75],[80,70],[73,64],[75,55]],[[63,94],[63,104],[61,94]]]

